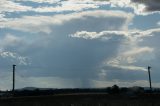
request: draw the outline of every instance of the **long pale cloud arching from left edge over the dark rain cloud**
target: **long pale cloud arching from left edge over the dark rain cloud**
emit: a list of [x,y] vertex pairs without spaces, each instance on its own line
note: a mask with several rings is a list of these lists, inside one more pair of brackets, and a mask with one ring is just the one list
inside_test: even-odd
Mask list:
[[[119,18],[124,19],[124,25],[121,29],[127,29],[127,24],[132,20],[133,15],[122,11],[85,11],[79,13],[71,13],[66,15],[54,15],[54,16],[23,16],[22,18],[7,19],[7,21],[0,22],[1,28],[10,28],[26,32],[44,32],[51,33],[51,26],[62,25],[65,22],[71,20],[86,20],[89,17],[93,18]],[[120,23],[120,22],[119,22]],[[109,22],[108,22],[109,24]],[[116,27],[116,25],[115,25]]]

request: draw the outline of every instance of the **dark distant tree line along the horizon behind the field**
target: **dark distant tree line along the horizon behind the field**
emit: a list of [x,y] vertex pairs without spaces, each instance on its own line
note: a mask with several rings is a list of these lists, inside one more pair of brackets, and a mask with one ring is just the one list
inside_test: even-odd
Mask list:
[[[14,96],[40,96],[40,95],[56,95],[56,94],[73,94],[73,93],[105,93],[105,94],[119,94],[119,95],[137,95],[142,93],[151,93],[143,87],[119,87],[113,85],[106,88],[74,88],[74,89],[22,89],[15,90]],[[160,89],[154,89],[152,93],[160,93]],[[13,95],[12,91],[0,91],[0,96]]]

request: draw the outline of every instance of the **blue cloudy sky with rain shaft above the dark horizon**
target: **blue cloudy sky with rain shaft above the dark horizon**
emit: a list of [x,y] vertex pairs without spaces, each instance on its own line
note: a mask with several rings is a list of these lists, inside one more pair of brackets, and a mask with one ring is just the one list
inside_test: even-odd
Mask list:
[[160,87],[159,0],[0,0],[0,89]]

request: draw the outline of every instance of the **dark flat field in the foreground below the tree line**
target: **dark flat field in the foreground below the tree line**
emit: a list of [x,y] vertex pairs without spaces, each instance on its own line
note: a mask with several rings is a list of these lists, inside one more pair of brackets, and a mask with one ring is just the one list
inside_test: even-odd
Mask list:
[[74,93],[3,97],[0,99],[0,106],[160,106],[160,94],[122,96],[107,93]]

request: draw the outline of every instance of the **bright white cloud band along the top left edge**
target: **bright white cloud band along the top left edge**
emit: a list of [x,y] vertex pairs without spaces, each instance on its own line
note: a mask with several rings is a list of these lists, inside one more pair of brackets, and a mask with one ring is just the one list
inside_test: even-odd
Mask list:
[[[56,3],[56,6],[41,6],[33,7],[25,5],[25,3],[21,2],[35,2],[35,3]],[[58,5],[60,4],[60,5]],[[82,11],[84,9],[98,8],[99,6],[95,3],[75,3],[75,2],[60,2],[56,0],[1,0],[0,1],[0,13],[5,14],[6,12],[65,12],[65,11]]]

